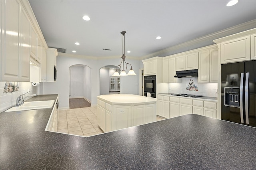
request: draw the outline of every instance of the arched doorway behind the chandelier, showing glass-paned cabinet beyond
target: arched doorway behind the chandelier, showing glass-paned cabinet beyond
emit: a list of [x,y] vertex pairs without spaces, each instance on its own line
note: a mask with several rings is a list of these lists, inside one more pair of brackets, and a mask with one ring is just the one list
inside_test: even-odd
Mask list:
[[[100,68],[100,95],[120,93],[120,77],[112,76],[116,71],[115,65]],[[120,69],[117,71],[120,73]]]

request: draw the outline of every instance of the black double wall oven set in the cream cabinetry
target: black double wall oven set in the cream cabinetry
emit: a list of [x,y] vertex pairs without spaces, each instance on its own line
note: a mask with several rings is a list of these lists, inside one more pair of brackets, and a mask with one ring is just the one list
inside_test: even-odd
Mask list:
[[147,96],[147,93],[156,98],[156,75],[144,76],[144,96]]

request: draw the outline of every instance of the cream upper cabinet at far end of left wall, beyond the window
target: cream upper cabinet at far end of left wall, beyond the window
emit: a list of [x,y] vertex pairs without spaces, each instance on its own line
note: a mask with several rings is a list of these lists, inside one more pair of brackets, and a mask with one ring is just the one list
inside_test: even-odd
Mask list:
[[58,51],[55,48],[48,48],[46,50],[46,81],[54,82],[54,67],[56,67],[56,57]]

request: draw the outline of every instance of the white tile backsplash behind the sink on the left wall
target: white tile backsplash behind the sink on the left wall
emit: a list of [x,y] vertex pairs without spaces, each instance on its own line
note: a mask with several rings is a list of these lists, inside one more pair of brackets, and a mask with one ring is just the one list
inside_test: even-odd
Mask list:
[[[14,85],[13,89],[10,90],[11,87],[9,87],[8,89],[8,86],[12,84]],[[35,86],[32,86],[31,82],[0,81],[0,112],[5,111],[6,109],[9,109],[10,107],[16,105],[17,97],[28,91],[31,91],[30,95],[37,94],[37,88]],[[29,98],[26,98],[25,100],[27,99]]]

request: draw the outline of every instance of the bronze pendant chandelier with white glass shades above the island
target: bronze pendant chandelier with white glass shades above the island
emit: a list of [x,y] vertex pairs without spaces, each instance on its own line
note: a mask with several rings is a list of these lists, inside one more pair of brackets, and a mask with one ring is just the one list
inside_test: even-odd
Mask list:
[[[113,74],[113,76],[127,76],[127,75],[136,75],[135,74],[135,72],[133,71],[133,69],[132,69],[132,65],[130,65],[129,63],[126,63],[126,61],[125,61],[125,55],[124,55],[124,53],[125,53],[125,34],[126,33],[126,31],[122,31],[121,32],[121,34],[122,34],[122,61],[121,61],[121,63],[116,67],[116,72]],[[123,37],[124,37],[124,40],[123,40]],[[124,50],[123,50],[124,49]],[[125,65],[125,68],[124,68],[124,65]],[[128,72],[128,74],[126,74],[126,69],[127,69],[127,65],[130,65],[131,66],[131,69],[129,70],[129,72]],[[121,66],[123,66],[122,67],[122,69],[121,69]],[[120,67],[120,71],[121,71],[121,73],[119,74],[118,73],[118,71],[117,71],[117,68],[118,67]]]

